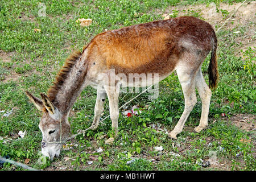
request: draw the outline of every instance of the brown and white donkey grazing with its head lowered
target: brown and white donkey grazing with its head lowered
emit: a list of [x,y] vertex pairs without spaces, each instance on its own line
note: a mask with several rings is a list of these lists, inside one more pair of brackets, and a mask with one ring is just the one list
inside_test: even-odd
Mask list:
[[[183,130],[184,123],[197,102],[196,88],[202,101],[200,124],[195,127],[195,131],[200,133],[208,126],[212,96],[210,88],[217,86],[216,48],[217,38],[212,26],[192,16],[156,20],[96,35],[82,52],[75,51],[67,58],[47,95],[40,93],[42,100],[26,91],[36,108],[43,111],[39,123],[43,135],[42,154],[51,159],[59,156],[61,141],[69,135],[69,111],[82,89],[88,85],[97,89],[93,128],[97,129],[99,125],[105,98],[108,96],[110,119],[116,137],[119,91],[121,86],[129,86],[134,81],[123,79],[130,73],[158,74],[158,81],[161,81],[176,71],[185,107],[174,130],[168,134],[172,139],[177,139],[176,135]],[[210,51],[208,87],[201,65]],[[142,79],[138,79],[133,85],[149,86]],[[113,140],[114,137],[108,140]]]

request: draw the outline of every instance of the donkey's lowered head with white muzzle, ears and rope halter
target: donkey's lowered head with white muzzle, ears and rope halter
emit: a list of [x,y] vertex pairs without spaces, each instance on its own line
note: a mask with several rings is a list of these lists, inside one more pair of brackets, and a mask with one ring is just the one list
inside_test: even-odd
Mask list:
[[61,142],[68,138],[70,126],[67,119],[67,114],[61,111],[52,104],[49,98],[44,93],[40,93],[42,100],[32,96],[26,91],[30,101],[40,111],[43,111],[39,129],[42,131],[42,154],[53,159],[58,157],[61,149]]

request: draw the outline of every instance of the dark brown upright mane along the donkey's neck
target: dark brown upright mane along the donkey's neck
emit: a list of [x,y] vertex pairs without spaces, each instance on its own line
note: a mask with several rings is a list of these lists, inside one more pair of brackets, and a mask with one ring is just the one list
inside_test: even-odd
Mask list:
[[63,85],[65,79],[67,78],[68,73],[71,71],[76,61],[79,60],[81,55],[82,53],[80,51],[74,51],[71,55],[69,55],[69,57],[65,60],[63,67],[60,69],[59,73],[55,77],[53,85],[49,88],[47,92],[49,100],[51,100],[53,103],[55,101],[55,96]]

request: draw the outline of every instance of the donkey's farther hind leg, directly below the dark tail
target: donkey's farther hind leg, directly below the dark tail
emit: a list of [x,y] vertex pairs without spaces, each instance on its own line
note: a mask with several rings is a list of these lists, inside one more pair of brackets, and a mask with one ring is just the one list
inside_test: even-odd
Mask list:
[[208,126],[210,97],[212,96],[212,92],[210,91],[209,87],[205,83],[201,68],[199,69],[196,75],[196,89],[199,92],[199,96],[202,101],[200,123],[199,123],[199,126],[195,127],[195,131],[199,133],[201,130],[205,129]]

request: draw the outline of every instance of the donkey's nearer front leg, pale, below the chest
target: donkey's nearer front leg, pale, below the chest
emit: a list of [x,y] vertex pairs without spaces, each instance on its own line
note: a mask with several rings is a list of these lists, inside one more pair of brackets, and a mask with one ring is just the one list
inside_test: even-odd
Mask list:
[[[112,129],[114,130],[113,138],[108,140],[113,140],[114,137],[118,135],[118,118],[119,118],[119,109],[118,109],[118,97],[119,97],[119,84],[116,84],[115,87],[105,86],[106,94],[109,99],[109,113],[110,119],[112,121]],[[108,142],[108,140],[106,142]]]

